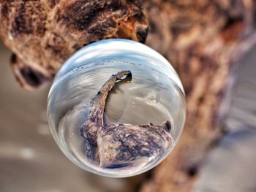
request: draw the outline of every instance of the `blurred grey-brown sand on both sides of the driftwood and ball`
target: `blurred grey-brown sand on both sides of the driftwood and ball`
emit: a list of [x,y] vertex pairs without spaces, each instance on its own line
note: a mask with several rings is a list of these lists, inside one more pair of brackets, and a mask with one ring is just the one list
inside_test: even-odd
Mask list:
[[[240,61],[225,126],[194,191],[256,191],[256,47]],[[59,150],[48,128],[48,87],[24,91],[0,42],[0,191],[138,191],[148,173],[126,179],[83,171]]]

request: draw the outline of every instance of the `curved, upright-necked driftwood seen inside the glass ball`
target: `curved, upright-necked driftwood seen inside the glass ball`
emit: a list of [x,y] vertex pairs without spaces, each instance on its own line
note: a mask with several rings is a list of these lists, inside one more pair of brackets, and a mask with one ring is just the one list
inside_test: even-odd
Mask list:
[[[85,139],[85,153],[91,164],[105,169],[138,169],[143,164],[156,161],[166,154],[173,145],[170,134],[170,120],[161,125],[148,123],[132,125],[127,123],[104,123],[105,103],[108,94],[118,82],[132,80],[132,72],[120,71],[102,85],[94,99],[91,100],[86,122],[80,128]],[[136,147],[135,147],[136,146]]]

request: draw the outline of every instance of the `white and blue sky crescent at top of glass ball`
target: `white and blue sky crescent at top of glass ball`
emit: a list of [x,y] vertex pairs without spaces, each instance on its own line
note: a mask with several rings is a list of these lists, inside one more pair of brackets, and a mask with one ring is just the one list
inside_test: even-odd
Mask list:
[[[121,58],[123,60],[129,58],[156,66],[157,68],[154,69],[159,69],[161,72],[167,74],[167,76],[171,76],[172,80],[176,82],[184,93],[178,74],[176,74],[173,66],[162,55],[146,45],[127,39],[108,39],[83,47],[66,61],[58,74],[56,74],[55,80],[66,74],[67,71],[90,64],[91,62],[101,61],[102,58],[111,59],[113,55],[115,55],[115,58]],[[69,65],[70,63],[72,65]]]

